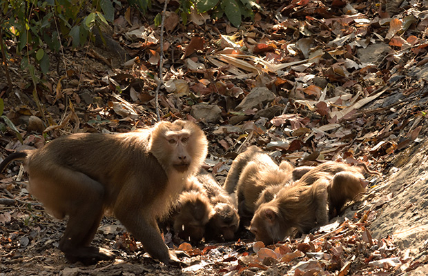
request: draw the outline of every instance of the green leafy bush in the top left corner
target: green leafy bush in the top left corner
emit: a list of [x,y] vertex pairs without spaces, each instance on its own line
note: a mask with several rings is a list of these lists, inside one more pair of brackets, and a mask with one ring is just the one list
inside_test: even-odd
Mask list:
[[[82,46],[88,41],[93,26],[114,19],[110,0],[92,3],[87,0],[0,0],[0,6],[3,33],[6,38],[18,41],[16,50],[22,57],[21,68],[28,68],[34,83],[40,79],[33,63],[46,74],[50,51],[59,52],[61,43],[70,38],[72,46]],[[87,10],[91,12],[84,17]]]

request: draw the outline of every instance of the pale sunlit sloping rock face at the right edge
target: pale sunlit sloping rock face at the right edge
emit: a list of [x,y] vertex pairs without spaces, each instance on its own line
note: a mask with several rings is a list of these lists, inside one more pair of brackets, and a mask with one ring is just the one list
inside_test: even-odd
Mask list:
[[401,250],[409,250],[413,256],[418,255],[421,248],[425,250],[424,242],[428,239],[427,146],[428,139],[425,139],[418,146],[396,155],[394,165],[400,170],[378,187],[388,198],[382,201],[382,208],[377,207],[376,219],[369,226],[373,238],[392,235],[394,244]]

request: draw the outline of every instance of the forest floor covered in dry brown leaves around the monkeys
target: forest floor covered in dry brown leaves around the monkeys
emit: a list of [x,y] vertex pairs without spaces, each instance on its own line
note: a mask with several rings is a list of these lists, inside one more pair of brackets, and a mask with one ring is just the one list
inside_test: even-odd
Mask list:
[[[220,183],[253,144],[295,166],[338,160],[382,172],[367,177],[366,195],[331,224],[271,246],[246,232],[235,242],[200,244],[165,233],[168,246],[189,256],[177,267],[151,259],[105,217],[93,244],[117,258],[70,264],[57,248],[66,221],[28,194],[17,162],[0,179],[0,276],[427,275],[428,5],[390,2],[383,10],[378,1],[266,1],[240,28],[197,14],[184,26],[168,11],[159,111],[200,124],[206,164]],[[155,124],[159,28],[125,6],[115,18],[106,45],[50,57],[58,66],[37,87],[43,111],[28,72],[12,59],[9,94],[0,74],[2,159],[72,132]],[[13,41],[8,46],[15,52]]]

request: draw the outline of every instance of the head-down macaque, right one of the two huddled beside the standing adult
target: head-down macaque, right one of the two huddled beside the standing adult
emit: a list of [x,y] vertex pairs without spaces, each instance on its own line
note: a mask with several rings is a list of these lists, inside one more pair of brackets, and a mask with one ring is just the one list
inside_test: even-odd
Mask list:
[[240,225],[236,199],[229,195],[205,170],[201,170],[196,178],[204,186],[215,211],[206,225],[206,239],[218,239],[220,236],[225,240],[233,239]]

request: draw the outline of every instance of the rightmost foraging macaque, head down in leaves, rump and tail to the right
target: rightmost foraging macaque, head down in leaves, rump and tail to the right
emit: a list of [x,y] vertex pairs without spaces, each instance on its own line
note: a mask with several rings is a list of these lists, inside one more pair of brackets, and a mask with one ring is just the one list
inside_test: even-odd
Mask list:
[[257,240],[270,244],[291,235],[293,228],[307,233],[327,224],[329,215],[338,215],[346,201],[365,191],[360,171],[338,162],[309,170],[300,180],[281,188],[271,201],[260,204],[251,221],[251,232]]

